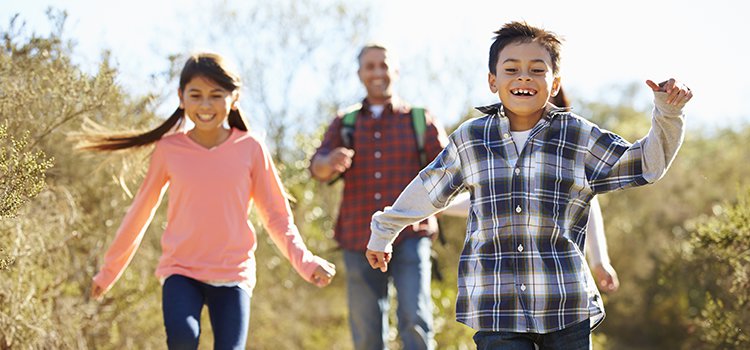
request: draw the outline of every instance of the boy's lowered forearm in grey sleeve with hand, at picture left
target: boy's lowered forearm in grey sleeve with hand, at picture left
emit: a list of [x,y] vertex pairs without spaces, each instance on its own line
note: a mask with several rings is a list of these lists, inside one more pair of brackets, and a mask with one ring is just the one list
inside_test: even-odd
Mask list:
[[393,206],[372,216],[370,241],[365,256],[373,269],[388,270],[393,241],[404,227],[435,214],[442,208],[432,205],[427,189],[419,176],[401,192]]

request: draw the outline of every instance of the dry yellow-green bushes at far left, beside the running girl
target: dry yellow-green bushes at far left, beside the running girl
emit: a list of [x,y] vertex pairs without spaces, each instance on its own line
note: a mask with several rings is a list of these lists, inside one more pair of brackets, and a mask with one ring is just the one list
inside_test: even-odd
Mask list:
[[[0,348],[123,348],[143,338],[123,339],[117,329],[147,334],[159,329],[158,320],[138,320],[133,313],[119,313],[119,305],[85,299],[103,242],[127,207],[111,175],[121,166],[73,152],[67,134],[78,130],[84,118],[116,125],[127,116],[130,126],[138,127],[149,116],[142,112],[144,101],[130,102],[119,91],[116,71],[106,59],[94,76],[70,62],[70,47],[60,39],[65,13],[49,14],[56,24],[49,35],[27,34],[17,17],[2,30],[4,130],[16,146],[28,140],[27,149],[39,150],[25,158],[36,160],[38,171],[49,165],[47,159],[54,158],[55,166],[47,171],[46,189],[19,208],[17,217],[0,222]],[[98,171],[107,168],[109,173]],[[128,178],[125,174],[123,180]],[[140,283],[148,278],[124,279],[131,280],[122,284],[124,290],[155,289],[153,283]],[[139,300],[134,308],[143,307]],[[123,321],[132,327],[123,327]]]

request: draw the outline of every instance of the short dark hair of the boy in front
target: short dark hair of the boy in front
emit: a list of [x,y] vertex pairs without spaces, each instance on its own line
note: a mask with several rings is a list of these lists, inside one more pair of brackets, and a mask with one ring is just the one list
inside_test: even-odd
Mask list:
[[534,27],[526,22],[513,21],[506,23],[495,34],[494,42],[490,46],[490,73],[497,74],[497,59],[508,44],[537,42],[547,49],[552,59],[552,74],[560,71],[560,46],[562,40],[557,34],[548,30]]

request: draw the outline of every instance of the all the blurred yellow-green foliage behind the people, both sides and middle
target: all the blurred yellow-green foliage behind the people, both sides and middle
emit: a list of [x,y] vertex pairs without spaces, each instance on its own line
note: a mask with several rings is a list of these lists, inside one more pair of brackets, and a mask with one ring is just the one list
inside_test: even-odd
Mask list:
[[[341,268],[341,254],[332,240],[340,184],[329,187],[317,183],[307,172],[307,159],[330,120],[325,116],[331,116],[333,106],[340,106],[341,100],[319,96],[305,104],[313,106],[311,110],[278,104],[273,96],[292,99],[295,95],[279,95],[276,89],[298,83],[294,78],[300,75],[292,73],[279,79],[282,84],[259,94],[263,86],[271,87],[263,83],[273,77],[255,74],[266,68],[271,71],[273,64],[284,64],[262,60],[264,52],[278,58],[283,56],[278,52],[304,48],[295,51],[293,57],[297,58],[287,62],[295,69],[327,57],[320,46],[326,43],[324,40],[333,40],[329,36],[332,32],[304,33],[306,20],[325,17],[318,16],[321,13],[340,15],[329,17],[331,23],[363,16],[362,9],[346,8],[342,2],[326,4],[330,6],[315,8],[313,2],[284,2],[278,8],[269,5],[257,7],[255,12],[235,12],[232,16],[236,17],[227,17],[229,27],[224,28],[229,33],[242,29],[243,23],[272,24],[280,16],[290,21],[283,22],[284,28],[295,29],[274,29],[272,32],[285,34],[280,46],[273,48],[280,51],[269,51],[273,40],[265,38],[261,42],[265,46],[257,44],[257,59],[247,61],[252,69],[243,69],[243,77],[253,85],[250,91],[257,94],[248,109],[260,115],[251,117],[251,128],[269,126],[267,141],[275,150],[280,174],[294,199],[296,222],[305,242],[339,265],[334,283],[317,289],[296,275],[259,229],[258,286],[252,298],[249,333],[253,349],[351,348],[346,271]],[[15,217],[3,214],[0,221],[0,348],[163,348],[161,288],[153,271],[160,255],[164,206],[115,288],[102,302],[87,299],[91,277],[130,205],[150,150],[104,158],[73,151],[74,141],[69,137],[80,132],[86,120],[119,130],[153,127],[160,121],[152,112],[153,96],[134,97],[121,91],[115,83],[118,72],[106,55],[96,74],[83,73],[70,61],[71,45],[61,39],[65,14],[50,15],[57,26],[49,35],[27,35],[17,18],[1,31],[0,155],[5,158],[0,159],[0,179],[7,181],[9,168],[26,175],[13,175],[16,180],[22,179],[18,183],[23,185],[17,187],[22,191],[16,197],[21,199],[6,211]],[[294,18],[299,22],[292,21]],[[367,28],[358,25],[361,27],[335,27],[347,33],[344,39],[337,37],[338,45],[357,42],[353,38]],[[315,35],[305,36],[308,34]],[[302,42],[309,45],[300,46]],[[239,46],[255,45],[245,42]],[[343,55],[354,57],[356,53]],[[327,59],[331,63],[340,57]],[[352,67],[332,64],[318,68],[330,72],[335,81],[350,77],[355,70]],[[254,78],[261,84],[254,85]],[[333,84],[327,85],[326,91],[336,90]],[[632,107],[634,90],[625,87],[620,103],[584,101],[577,103],[580,108],[576,110],[635,140],[650,124],[647,111]],[[263,106],[256,98],[267,98],[269,104]],[[309,115],[316,117],[311,119]],[[263,124],[277,116],[274,123]],[[310,120],[314,127],[293,122],[303,119]],[[690,130],[672,168],[660,182],[602,196],[610,256],[622,285],[617,293],[605,296],[607,318],[594,332],[597,348],[748,347],[750,195],[735,196],[748,186],[749,143],[747,126],[735,125],[713,133]],[[55,160],[53,167],[51,159]],[[45,187],[41,187],[41,181],[46,182]],[[5,198],[2,203],[7,203]],[[256,217],[251,219],[255,227],[262,227]],[[443,279],[433,281],[438,348],[473,348],[473,331],[454,320],[456,266],[465,222],[447,217],[442,221],[446,244],[436,244],[435,250]],[[212,334],[205,312],[202,323],[202,348],[210,348]],[[284,336],[279,336],[280,332]],[[398,349],[395,334],[391,338],[391,348]]]

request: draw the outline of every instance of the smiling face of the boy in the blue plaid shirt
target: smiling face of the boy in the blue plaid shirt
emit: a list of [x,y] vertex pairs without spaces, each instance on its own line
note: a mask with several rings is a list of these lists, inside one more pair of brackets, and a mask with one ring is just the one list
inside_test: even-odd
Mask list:
[[550,96],[557,94],[560,77],[552,73],[549,52],[536,42],[511,43],[500,51],[497,75],[489,73],[492,93],[513,119],[540,118]]

